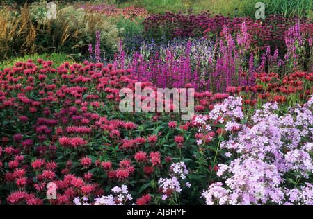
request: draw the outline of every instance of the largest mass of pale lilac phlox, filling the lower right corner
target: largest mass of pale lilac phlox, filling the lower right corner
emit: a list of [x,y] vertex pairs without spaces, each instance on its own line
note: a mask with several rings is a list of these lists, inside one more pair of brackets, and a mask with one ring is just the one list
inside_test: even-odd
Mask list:
[[220,144],[238,158],[218,165],[217,175],[225,183],[203,191],[207,204],[312,204],[312,184],[283,187],[287,174],[300,180],[313,173],[313,143],[302,140],[312,139],[312,101],[283,116],[277,112],[276,103],[266,103],[252,115],[252,127],[242,125],[238,134]]

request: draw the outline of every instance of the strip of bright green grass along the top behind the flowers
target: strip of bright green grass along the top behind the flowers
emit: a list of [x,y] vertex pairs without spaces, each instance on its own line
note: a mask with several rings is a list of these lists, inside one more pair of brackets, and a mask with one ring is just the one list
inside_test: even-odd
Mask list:
[[119,7],[134,5],[145,8],[152,14],[166,11],[186,11],[196,14],[210,10],[215,14],[221,13],[230,17],[235,17],[235,8],[237,8],[238,17],[255,19],[257,2],[265,4],[266,16],[282,14],[284,17],[291,17],[295,14],[298,17],[303,15],[313,17],[313,0],[120,0]]

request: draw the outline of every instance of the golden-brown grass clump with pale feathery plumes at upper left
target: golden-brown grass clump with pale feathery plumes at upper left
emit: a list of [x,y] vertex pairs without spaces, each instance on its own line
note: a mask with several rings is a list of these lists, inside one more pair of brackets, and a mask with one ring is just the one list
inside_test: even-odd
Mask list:
[[118,47],[120,30],[108,15],[71,6],[58,8],[56,19],[47,19],[45,14],[38,18],[33,12],[26,4],[15,14],[1,10],[0,60],[35,53],[88,52],[88,44],[95,44],[97,30],[106,48]]

